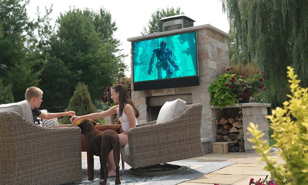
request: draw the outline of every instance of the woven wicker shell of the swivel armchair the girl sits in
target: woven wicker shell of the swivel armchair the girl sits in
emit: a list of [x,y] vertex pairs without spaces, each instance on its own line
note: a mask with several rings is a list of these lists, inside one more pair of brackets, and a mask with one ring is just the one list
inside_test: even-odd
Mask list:
[[129,155],[123,153],[123,160],[136,169],[204,155],[201,112],[201,104],[186,105],[170,121],[156,124],[155,120],[129,130]]

